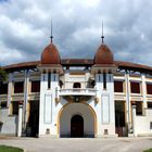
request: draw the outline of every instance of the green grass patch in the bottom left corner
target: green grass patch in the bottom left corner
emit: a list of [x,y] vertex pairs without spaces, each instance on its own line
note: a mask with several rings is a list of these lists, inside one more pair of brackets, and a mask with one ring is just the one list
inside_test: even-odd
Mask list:
[[20,148],[0,145],[0,152],[23,152],[23,150]]

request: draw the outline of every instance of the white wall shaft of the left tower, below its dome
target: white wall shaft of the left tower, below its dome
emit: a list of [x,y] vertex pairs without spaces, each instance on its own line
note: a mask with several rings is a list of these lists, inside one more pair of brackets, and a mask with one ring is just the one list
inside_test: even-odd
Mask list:
[[[48,89],[48,74],[41,74],[39,136],[58,136],[55,89],[59,87],[59,75],[51,74],[51,88]],[[49,131],[48,131],[49,130]]]

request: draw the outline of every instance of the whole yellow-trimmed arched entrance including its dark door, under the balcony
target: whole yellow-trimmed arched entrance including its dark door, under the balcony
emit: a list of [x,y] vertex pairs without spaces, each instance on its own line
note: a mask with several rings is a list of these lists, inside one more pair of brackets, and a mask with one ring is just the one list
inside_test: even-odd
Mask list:
[[97,115],[89,104],[66,103],[59,112],[60,137],[88,137],[97,132]]

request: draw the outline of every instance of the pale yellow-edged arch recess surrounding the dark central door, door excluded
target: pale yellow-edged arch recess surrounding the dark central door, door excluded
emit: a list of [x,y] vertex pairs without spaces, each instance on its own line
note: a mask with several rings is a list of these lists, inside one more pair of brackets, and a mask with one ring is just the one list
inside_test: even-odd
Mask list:
[[71,121],[75,115],[84,119],[84,137],[96,137],[97,115],[93,109],[87,103],[67,103],[59,112],[59,136],[71,137]]

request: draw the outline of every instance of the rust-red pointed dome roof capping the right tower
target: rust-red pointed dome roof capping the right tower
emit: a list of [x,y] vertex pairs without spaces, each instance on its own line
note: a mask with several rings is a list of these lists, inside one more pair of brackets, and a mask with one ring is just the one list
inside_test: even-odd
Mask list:
[[113,64],[113,53],[106,45],[101,45],[94,55],[94,64]]

